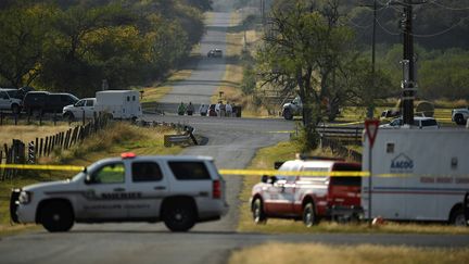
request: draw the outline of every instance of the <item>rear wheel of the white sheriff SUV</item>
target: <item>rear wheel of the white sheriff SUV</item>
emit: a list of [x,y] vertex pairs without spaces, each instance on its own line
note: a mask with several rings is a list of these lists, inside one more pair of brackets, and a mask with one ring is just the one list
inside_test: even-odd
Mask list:
[[197,212],[191,204],[168,204],[163,211],[163,221],[172,231],[188,231],[195,225]]

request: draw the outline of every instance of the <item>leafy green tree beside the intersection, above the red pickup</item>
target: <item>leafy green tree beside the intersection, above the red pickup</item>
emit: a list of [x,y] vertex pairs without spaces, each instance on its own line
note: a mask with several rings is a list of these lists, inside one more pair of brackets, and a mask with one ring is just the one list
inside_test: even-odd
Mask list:
[[353,40],[341,26],[339,1],[278,1],[272,7],[265,46],[258,52],[265,83],[295,89],[303,101],[306,149],[316,147],[316,124],[327,112],[325,101],[334,96],[334,71]]

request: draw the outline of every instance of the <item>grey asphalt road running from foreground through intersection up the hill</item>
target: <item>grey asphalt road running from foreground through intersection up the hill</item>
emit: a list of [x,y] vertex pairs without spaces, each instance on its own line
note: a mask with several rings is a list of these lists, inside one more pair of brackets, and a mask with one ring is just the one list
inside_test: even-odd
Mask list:
[[[228,13],[217,13],[202,42],[202,52],[221,47]],[[218,24],[219,23],[219,24]],[[211,37],[213,36],[213,37]],[[211,38],[211,39],[208,39]],[[205,52],[206,53],[206,52]],[[164,99],[166,105],[180,100],[207,102],[224,72],[223,59],[201,60],[190,79],[176,86]],[[183,99],[181,99],[183,98]],[[206,101],[205,101],[206,100]],[[258,148],[289,137],[293,122],[283,120],[218,118],[201,116],[145,115],[145,120],[175,122],[195,127],[207,138],[205,144],[188,148],[183,154],[211,155],[218,168],[242,168]],[[172,234],[163,224],[76,225],[69,232],[45,230],[3,237],[0,263],[225,263],[231,251],[266,241],[324,242],[330,244],[410,244],[419,247],[467,247],[469,236],[442,235],[264,235],[239,234],[241,178],[227,176],[229,214],[219,222],[197,225],[187,234]]]

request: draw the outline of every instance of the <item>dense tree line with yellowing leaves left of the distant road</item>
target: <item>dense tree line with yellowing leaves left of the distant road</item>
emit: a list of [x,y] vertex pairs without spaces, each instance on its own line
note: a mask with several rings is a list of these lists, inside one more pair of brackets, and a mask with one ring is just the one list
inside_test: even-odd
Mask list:
[[21,0],[0,4],[0,84],[71,91],[143,85],[183,62],[211,0]]

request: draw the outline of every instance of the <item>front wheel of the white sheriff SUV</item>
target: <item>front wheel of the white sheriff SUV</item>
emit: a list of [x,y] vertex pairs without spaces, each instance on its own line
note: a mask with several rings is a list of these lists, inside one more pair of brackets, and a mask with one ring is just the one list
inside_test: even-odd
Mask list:
[[50,232],[68,231],[74,225],[72,208],[59,201],[43,204],[40,209],[40,223]]

